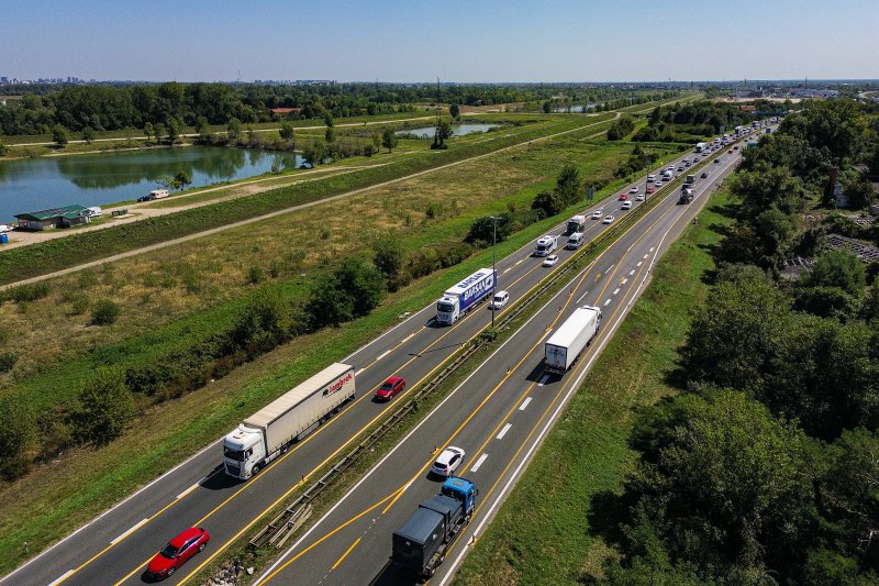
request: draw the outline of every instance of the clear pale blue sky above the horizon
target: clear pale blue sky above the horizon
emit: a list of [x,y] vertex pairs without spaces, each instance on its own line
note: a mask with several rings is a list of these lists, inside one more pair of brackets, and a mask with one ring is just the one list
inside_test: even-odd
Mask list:
[[0,76],[23,79],[879,78],[879,0],[0,5]]

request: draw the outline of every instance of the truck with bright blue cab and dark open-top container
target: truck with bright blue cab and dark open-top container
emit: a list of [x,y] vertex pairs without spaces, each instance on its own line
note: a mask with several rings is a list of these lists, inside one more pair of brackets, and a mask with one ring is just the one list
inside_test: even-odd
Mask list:
[[405,524],[393,532],[391,561],[421,578],[432,577],[448,546],[470,522],[478,494],[470,480],[448,478],[438,495],[419,505]]

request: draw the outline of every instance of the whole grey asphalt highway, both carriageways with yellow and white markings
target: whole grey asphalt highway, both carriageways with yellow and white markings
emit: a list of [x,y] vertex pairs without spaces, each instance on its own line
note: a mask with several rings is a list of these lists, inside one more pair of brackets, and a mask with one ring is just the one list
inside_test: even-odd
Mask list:
[[[688,155],[692,156],[688,153],[681,158]],[[697,183],[698,195],[721,174],[732,169],[737,154],[720,157],[721,164],[710,164],[705,168],[710,172],[709,179]],[[638,187],[643,192],[644,181]],[[334,584],[361,583],[365,575],[383,581],[382,568],[388,561],[391,531],[408,518],[418,501],[438,488],[437,483],[424,478],[421,468],[432,462],[434,445],[453,443],[467,450],[460,473],[474,477],[483,487],[480,509],[470,531],[488,518],[493,508],[487,505],[500,494],[505,478],[519,469],[518,462],[530,450],[530,442],[541,436],[537,429],[548,420],[554,406],[560,403],[561,394],[568,390],[568,382],[612,334],[624,314],[622,309],[639,291],[638,286],[646,278],[648,266],[674,241],[702,199],[690,206],[675,206],[677,192],[669,189],[660,189],[650,197],[666,200],[630,228],[588,272],[578,277],[579,280],[572,285],[572,295],[559,294],[532,318],[528,327],[508,341],[464,387],[445,399],[411,438],[370,473],[346,497],[344,506],[335,508],[330,517],[322,519],[299,540],[296,548],[301,552],[294,549],[299,552],[294,553],[296,562],[272,578],[275,583],[313,584],[325,574],[330,574],[329,579]],[[635,208],[639,204],[634,202]],[[605,214],[613,213],[619,222],[624,214],[633,213],[622,211],[621,206],[614,195],[586,212],[602,209]],[[588,220],[586,241],[594,240],[610,228],[612,225],[599,220]],[[565,224],[559,224],[553,233],[560,234],[564,229]],[[564,237],[559,239],[561,245],[564,241]],[[533,246],[528,243],[498,262],[497,287],[510,291],[511,303],[558,268],[541,266],[542,259],[531,256]],[[572,252],[559,250],[557,254],[560,265]],[[448,286],[454,284],[449,281]],[[593,343],[589,355],[585,355],[568,376],[560,382],[545,379],[541,374],[539,358],[541,341],[549,333],[547,325],[557,325],[572,308],[585,303],[602,307],[605,316],[603,333]],[[53,586],[141,583],[146,563],[168,539],[186,528],[204,527],[212,534],[208,549],[167,581],[168,584],[186,582],[222,555],[232,541],[258,527],[257,520],[266,511],[292,500],[291,495],[303,484],[313,482],[322,466],[338,460],[361,431],[387,416],[394,403],[404,400],[405,395],[398,396],[391,403],[372,400],[376,387],[388,376],[403,376],[409,382],[407,394],[411,392],[429,380],[461,344],[478,335],[491,319],[485,305],[454,327],[435,325],[434,313],[435,305],[432,303],[343,358],[341,362],[358,368],[357,398],[255,478],[242,483],[218,469],[222,457],[218,440],[0,583]],[[505,375],[508,368],[510,374]],[[496,440],[501,434],[501,425],[507,423],[511,427],[502,439]],[[482,453],[488,455],[481,460],[477,471],[470,472]],[[157,463],[157,473],[167,465]],[[497,488],[490,489],[492,485]],[[408,489],[399,491],[402,487]],[[319,539],[322,533],[344,522],[351,511],[365,510],[376,502],[383,504],[333,533],[319,546],[305,551],[311,544],[309,539]],[[385,511],[387,505],[392,507]],[[358,545],[351,548],[358,538],[361,540]],[[348,554],[342,560],[346,551]],[[302,552],[304,554],[300,555]],[[330,572],[336,562],[340,563],[335,571]],[[442,570],[447,572],[454,565],[447,562]]]

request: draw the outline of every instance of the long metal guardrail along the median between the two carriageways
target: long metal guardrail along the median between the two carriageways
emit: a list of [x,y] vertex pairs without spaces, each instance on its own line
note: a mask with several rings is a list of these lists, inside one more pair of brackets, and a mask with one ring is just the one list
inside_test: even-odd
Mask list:
[[[706,163],[706,162],[705,162]],[[698,165],[701,168],[704,165]],[[693,166],[696,169],[697,166]],[[667,186],[677,187],[683,183],[683,177],[678,176]],[[667,195],[663,197],[654,197],[654,201],[663,201],[668,197],[674,197],[675,190],[669,189]],[[634,221],[634,218],[644,215],[648,210],[653,209],[658,203],[648,204],[645,201],[643,206],[638,206],[633,210],[633,213],[625,214],[619,222],[615,222],[609,230],[599,235],[598,239],[592,240],[586,246],[581,247],[578,253],[575,253],[568,262],[566,262],[558,270],[547,276],[545,279],[535,285],[526,297],[515,303],[514,307],[498,322],[497,330],[507,328],[514,319],[522,314],[525,309],[531,307],[534,301],[539,299],[543,294],[555,286],[565,275],[578,268],[578,261],[583,256],[591,254],[598,248],[600,244],[607,242],[611,236],[615,235],[621,229],[627,226]],[[259,532],[254,535],[248,542],[251,549],[259,549],[266,543],[276,545],[277,548],[283,546],[283,543],[296,530],[298,530],[311,516],[312,501],[320,495],[333,480],[335,480],[345,469],[351,467],[365,452],[368,452],[381,438],[391,431],[397,424],[402,421],[409,413],[416,411],[419,402],[430,396],[436,388],[445,382],[458,367],[467,362],[467,360],[479,350],[485,341],[479,336],[471,339],[460,354],[446,365],[438,375],[432,378],[424,387],[421,388],[413,397],[411,397],[403,406],[397,409],[388,419],[386,419],[378,428],[376,428],[366,439],[360,441],[351,452],[345,454],[342,460],[336,462],[321,478],[312,484],[302,495],[300,495],[293,502],[283,509],[277,517],[264,527]],[[465,344],[461,345],[464,347]]]

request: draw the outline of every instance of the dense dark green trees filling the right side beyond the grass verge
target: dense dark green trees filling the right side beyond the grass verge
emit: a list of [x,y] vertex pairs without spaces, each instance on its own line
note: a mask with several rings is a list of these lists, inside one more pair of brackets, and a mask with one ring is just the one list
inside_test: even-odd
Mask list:
[[[669,375],[686,391],[643,409],[630,439],[611,584],[879,581],[879,270],[800,221],[828,206],[831,168],[872,156],[870,115],[813,102],[746,153]],[[794,251],[815,263],[785,278]]]

